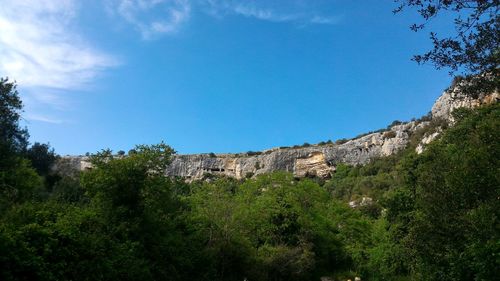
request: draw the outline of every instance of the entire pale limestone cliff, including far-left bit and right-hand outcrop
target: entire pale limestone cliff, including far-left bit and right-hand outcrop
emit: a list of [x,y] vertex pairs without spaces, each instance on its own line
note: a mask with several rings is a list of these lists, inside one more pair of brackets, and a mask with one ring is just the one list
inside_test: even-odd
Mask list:
[[[455,92],[445,92],[432,107],[432,118],[451,120],[451,112],[459,107],[475,107],[496,102],[498,93],[471,99]],[[206,174],[225,175],[237,179],[274,171],[287,171],[297,177],[318,176],[327,178],[339,163],[365,164],[371,159],[388,156],[405,148],[410,135],[428,125],[429,122],[408,122],[392,126],[384,132],[368,134],[343,144],[312,145],[299,148],[273,148],[247,154],[192,154],[175,155],[165,171],[167,176],[179,176],[188,181],[202,179]],[[435,139],[439,132],[424,136],[418,152]],[[84,170],[90,168],[84,156],[63,157],[56,166],[58,170]]]

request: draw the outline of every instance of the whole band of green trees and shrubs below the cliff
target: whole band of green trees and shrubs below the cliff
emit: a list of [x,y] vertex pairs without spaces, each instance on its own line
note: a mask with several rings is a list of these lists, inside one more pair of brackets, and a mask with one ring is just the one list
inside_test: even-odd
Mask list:
[[[187,184],[165,144],[104,150],[55,175],[0,82],[0,280],[495,280],[500,108],[329,180],[274,173]],[[363,197],[370,198],[363,203]],[[348,202],[358,202],[355,208]]]

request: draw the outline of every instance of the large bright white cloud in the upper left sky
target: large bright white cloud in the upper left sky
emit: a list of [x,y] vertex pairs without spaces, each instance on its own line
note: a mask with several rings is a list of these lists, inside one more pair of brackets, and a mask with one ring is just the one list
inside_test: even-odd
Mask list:
[[61,109],[65,91],[87,87],[118,64],[78,36],[78,10],[75,0],[0,0],[0,76],[23,88],[27,119],[60,123],[30,105]]

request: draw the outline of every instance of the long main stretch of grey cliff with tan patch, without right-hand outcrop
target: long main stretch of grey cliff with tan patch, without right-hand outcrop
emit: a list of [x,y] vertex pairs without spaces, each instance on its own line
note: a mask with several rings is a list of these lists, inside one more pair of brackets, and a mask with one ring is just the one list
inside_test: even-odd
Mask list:
[[258,155],[209,154],[177,155],[166,171],[168,176],[188,180],[206,174],[241,179],[274,171],[292,172],[297,177],[327,178],[339,163],[365,164],[375,157],[391,155],[408,144],[409,135],[418,125],[410,122],[394,126],[390,136],[385,132],[352,139],[344,144],[312,145],[299,148],[274,148]]

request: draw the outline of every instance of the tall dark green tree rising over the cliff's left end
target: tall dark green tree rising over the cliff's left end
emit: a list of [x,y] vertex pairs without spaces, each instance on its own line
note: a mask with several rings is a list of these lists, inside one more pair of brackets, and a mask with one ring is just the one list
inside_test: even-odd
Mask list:
[[201,274],[193,271],[201,265],[199,247],[189,239],[177,182],[164,176],[173,153],[163,143],[136,146],[127,157],[104,150],[91,157],[92,169],[82,174],[82,187],[90,205],[102,210],[110,239],[133,246],[134,256],[144,261],[137,273],[144,272],[146,280],[197,279]]

